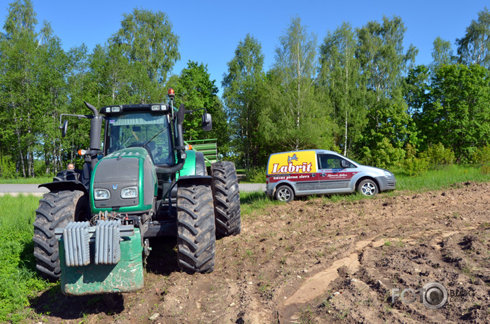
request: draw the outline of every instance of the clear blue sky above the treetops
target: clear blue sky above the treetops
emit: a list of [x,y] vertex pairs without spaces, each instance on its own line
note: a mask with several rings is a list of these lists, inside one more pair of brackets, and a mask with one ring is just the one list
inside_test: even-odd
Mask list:
[[[166,12],[173,31],[180,36],[181,60],[173,68],[180,73],[188,60],[208,65],[211,79],[220,88],[227,62],[247,33],[257,38],[265,55],[265,70],[273,64],[278,38],[289,26],[291,18],[299,16],[302,25],[318,37],[318,45],[328,31],[343,21],[362,27],[368,21],[382,21],[385,16],[401,16],[407,28],[405,48],[413,44],[419,49],[417,64],[432,60],[432,42],[439,36],[454,41],[465,34],[478,12],[490,6],[488,0],[467,1],[164,1],[164,0],[32,0],[39,26],[51,23],[54,34],[61,38],[65,49],[85,43],[90,51],[103,44],[120,27],[123,13],[133,8]],[[0,1],[1,27],[8,3]]]

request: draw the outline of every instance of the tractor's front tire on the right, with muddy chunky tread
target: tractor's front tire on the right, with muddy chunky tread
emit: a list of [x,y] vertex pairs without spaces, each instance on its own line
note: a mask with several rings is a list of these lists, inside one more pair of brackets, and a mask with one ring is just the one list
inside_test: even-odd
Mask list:
[[215,215],[211,186],[179,184],[177,189],[177,259],[188,273],[215,269]]

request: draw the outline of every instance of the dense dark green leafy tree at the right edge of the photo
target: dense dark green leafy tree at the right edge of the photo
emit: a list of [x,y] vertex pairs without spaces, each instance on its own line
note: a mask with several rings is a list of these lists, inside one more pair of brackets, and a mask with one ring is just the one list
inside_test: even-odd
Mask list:
[[489,71],[478,64],[443,65],[431,82],[428,102],[417,121],[422,149],[441,142],[458,162],[488,144],[490,133]]

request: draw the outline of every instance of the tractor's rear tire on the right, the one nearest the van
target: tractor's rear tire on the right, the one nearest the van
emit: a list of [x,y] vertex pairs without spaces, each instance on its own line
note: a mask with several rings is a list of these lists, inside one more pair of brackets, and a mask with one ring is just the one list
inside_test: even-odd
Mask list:
[[212,181],[215,183],[215,218],[218,238],[240,234],[240,191],[235,164],[216,162],[211,165]]

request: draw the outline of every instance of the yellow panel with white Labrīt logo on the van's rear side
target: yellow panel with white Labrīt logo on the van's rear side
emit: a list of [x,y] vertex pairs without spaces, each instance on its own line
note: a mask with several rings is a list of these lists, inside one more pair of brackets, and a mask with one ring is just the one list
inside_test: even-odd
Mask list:
[[286,152],[271,155],[267,173],[283,175],[317,172],[315,151]]

